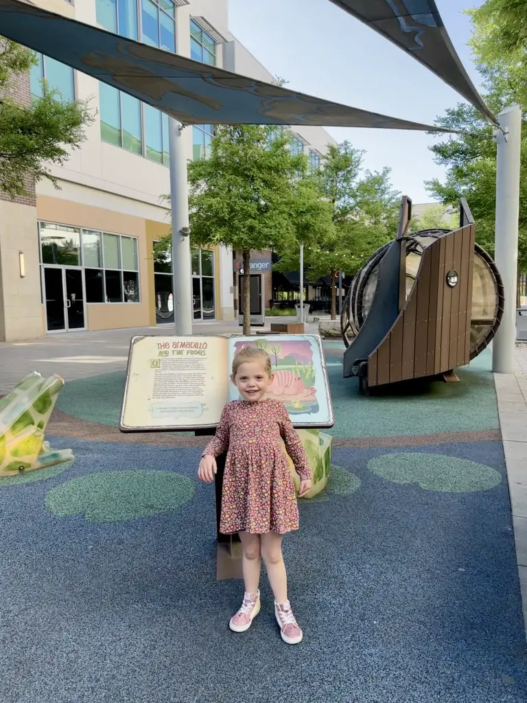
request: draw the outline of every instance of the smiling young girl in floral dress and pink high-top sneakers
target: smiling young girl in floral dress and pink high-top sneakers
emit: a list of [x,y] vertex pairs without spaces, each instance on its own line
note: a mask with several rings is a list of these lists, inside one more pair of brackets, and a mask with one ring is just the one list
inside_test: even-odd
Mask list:
[[205,448],[198,477],[214,481],[216,456],[227,452],[223,475],[220,531],[238,532],[242,542],[245,596],[230,619],[230,629],[245,632],[260,610],[260,565],[266,565],[275,596],[275,617],[282,640],[295,645],[302,631],[287,600],[287,575],[282,557],[282,536],[299,527],[297,499],[289,462],[280,444],[285,442],[301,483],[299,495],[311,488],[311,469],[285,406],[264,398],[273,382],[271,359],[256,347],[235,355],[230,377],[242,400],[223,408],[216,436]]

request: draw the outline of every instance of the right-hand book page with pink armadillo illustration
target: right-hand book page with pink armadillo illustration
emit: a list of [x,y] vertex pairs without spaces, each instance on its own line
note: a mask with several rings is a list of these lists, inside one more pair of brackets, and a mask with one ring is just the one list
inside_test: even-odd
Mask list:
[[[229,368],[235,353],[248,345],[259,347],[269,355],[274,378],[266,396],[282,401],[295,427],[334,425],[330,384],[318,335],[230,337]],[[238,397],[238,390],[231,383],[229,400]]]

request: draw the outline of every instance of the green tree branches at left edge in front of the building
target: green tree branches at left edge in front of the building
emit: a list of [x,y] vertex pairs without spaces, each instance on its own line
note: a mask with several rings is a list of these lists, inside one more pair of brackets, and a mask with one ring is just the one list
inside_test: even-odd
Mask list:
[[45,82],[44,96],[29,106],[8,98],[12,82],[36,64],[30,49],[0,37],[0,188],[11,197],[26,195],[28,180],[46,178],[56,186],[49,165],[67,161],[93,120],[86,103],[63,101]]

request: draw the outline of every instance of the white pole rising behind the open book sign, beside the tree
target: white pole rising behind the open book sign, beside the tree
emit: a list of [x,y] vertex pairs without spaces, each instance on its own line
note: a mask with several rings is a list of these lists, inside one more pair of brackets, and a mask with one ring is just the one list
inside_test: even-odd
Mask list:
[[176,335],[191,335],[193,304],[188,228],[187,156],[183,125],[172,117],[169,117],[169,155],[174,323]]

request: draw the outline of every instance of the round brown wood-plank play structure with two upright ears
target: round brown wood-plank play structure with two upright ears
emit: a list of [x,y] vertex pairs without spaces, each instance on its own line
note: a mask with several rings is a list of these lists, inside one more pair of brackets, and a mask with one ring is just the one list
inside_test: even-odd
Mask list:
[[344,378],[370,389],[413,379],[457,380],[494,337],[503,314],[500,273],[475,242],[460,201],[460,227],[407,235],[404,196],[396,239],[368,259],[343,305]]

